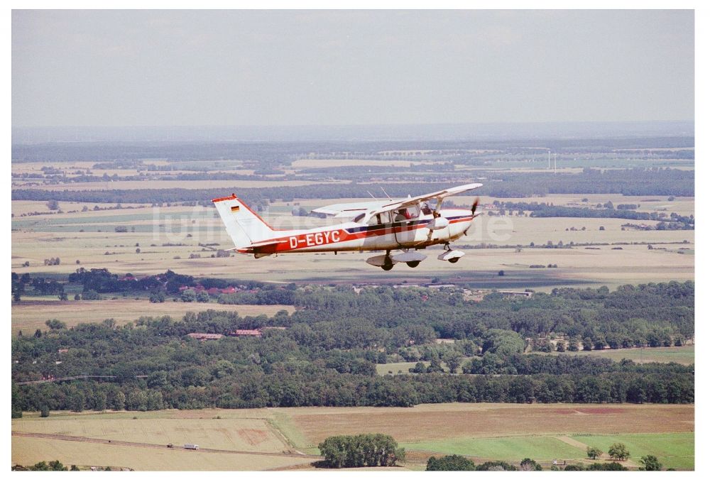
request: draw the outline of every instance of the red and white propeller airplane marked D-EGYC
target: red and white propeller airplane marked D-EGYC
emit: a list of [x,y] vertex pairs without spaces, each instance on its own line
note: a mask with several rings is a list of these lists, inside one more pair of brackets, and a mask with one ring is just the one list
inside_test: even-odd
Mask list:
[[[478,215],[479,200],[476,198],[471,209],[442,209],[442,203],[446,197],[481,186],[466,184],[405,199],[331,204],[312,212],[349,220],[313,229],[274,229],[234,194],[212,202],[234,241],[229,251],[253,254],[254,258],[283,253],[385,251],[368,258],[367,263],[388,271],[396,263],[416,268],[427,258],[419,251],[436,244],[446,249],[437,256],[439,260],[459,261],[465,253],[452,250],[449,243],[467,234]],[[395,250],[401,253],[393,254]]]

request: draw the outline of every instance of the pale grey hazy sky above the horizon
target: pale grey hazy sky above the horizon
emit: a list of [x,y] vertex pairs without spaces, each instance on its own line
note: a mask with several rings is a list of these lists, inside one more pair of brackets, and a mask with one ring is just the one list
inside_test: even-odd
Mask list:
[[13,11],[13,126],[694,119],[692,11]]

